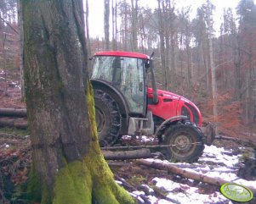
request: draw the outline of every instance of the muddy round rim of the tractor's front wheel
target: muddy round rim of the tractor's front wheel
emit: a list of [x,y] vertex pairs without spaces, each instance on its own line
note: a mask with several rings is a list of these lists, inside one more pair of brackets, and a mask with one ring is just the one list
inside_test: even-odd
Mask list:
[[170,141],[172,152],[180,157],[185,157],[191,154],[196,148],[196,145],[191,145],[193,142],[193,137],[188,134],[180,134],[173,137]]

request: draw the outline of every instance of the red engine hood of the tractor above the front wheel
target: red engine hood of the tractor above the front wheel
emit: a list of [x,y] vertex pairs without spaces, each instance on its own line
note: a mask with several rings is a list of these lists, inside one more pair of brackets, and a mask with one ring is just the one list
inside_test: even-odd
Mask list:
[[[152,88],[147,89],[148,98],[153,96]],[[158,103],[151,104],[149,100],[148,108],[152,113],[162,119],[174,116],[185,115],[191,122],[201,126],[202,114],[196,105],[183,96],[179,96],[170,91],[157,90]]]

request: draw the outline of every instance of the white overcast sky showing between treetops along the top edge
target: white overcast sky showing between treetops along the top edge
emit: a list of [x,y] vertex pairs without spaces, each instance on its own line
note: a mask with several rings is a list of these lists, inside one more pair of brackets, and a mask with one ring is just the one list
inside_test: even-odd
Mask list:
[[[178,8],[192,5],[192,13],[196,14],[196,8],[200,7],[202,3],[207,0],[176,0],[175,3]],[[213,15],[215,21],[215,30],[219,30],[219,25],[222,19],[223,8],[235,9],[240,0],[211,0],[216,9]],[[254,0],[255,1],[255,0]],[[127,0],[130,3],[130,0]],[[89,0],[89,30],[90,36],[102,37],[104,36],[104,0]],[[157,7],[157,0],[139,0],[139,5],[149,8]],[[236,11],[234,10],[234,14]]]

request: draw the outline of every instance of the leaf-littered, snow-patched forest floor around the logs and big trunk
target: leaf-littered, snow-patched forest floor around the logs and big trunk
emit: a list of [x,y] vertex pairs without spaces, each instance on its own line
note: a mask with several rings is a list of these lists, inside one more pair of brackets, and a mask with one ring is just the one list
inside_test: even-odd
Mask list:
[[[11,85],[6,93],[0,82],[0,108],[25,107],[25,104],[20,102],[18,86]],[[3,180],[0,178],[0,203],[26,203],[20,200],[20,196],[31,165],[30,144],[27,130],[0,129],[0,170],[3,178]],[[205,146],[202,157],[197,163],[170,164],[196,174],[255,188],[256,175],[245,178],[245,174],[241,172],[244,167],[244,157],[254,157],[254,154],[252,148],[242,146],[235,141],[214,141],[213,146]],[[149,158],[146,161],[169,163],[161,157]],[[108,161],[108,163],[117,183],[128,190],[139,203],[236,203],[221,195],[219,185],[209,185],[166,170],[148,168],[134,160]],[[256,172],[256,166],[253,168]],[[255,197],[247,203],[256,203]]]

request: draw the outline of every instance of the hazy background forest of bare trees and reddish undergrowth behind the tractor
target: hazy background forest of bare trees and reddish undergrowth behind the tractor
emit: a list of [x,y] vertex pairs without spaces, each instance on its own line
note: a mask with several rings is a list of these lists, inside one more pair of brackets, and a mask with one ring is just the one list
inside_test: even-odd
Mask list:
[[[100,1],[99,1],[100,2]],[[91,36],[97,20],[89,19],[90,1],[84,0],[88,55],[101,50],[155,52],[159,88],[185,96],[201,109],[219,134],[256,141],[256,5],[241,0],[225,8],[214,21],[214,1],[198,8],[178,1],[154,0],[156,8],[139,0],[101,0],[102,36]],[[152,1],[153,2],[153,1]],[[181,2],[181,1],[179,1]],[[180,3],[179,3],[180,4]],[[192,4],[192,1],[191,1]],[[16,0],[0,2],[0,92],[18,85],[22,36]],[[92,65],[90,64],[90,69]]]

